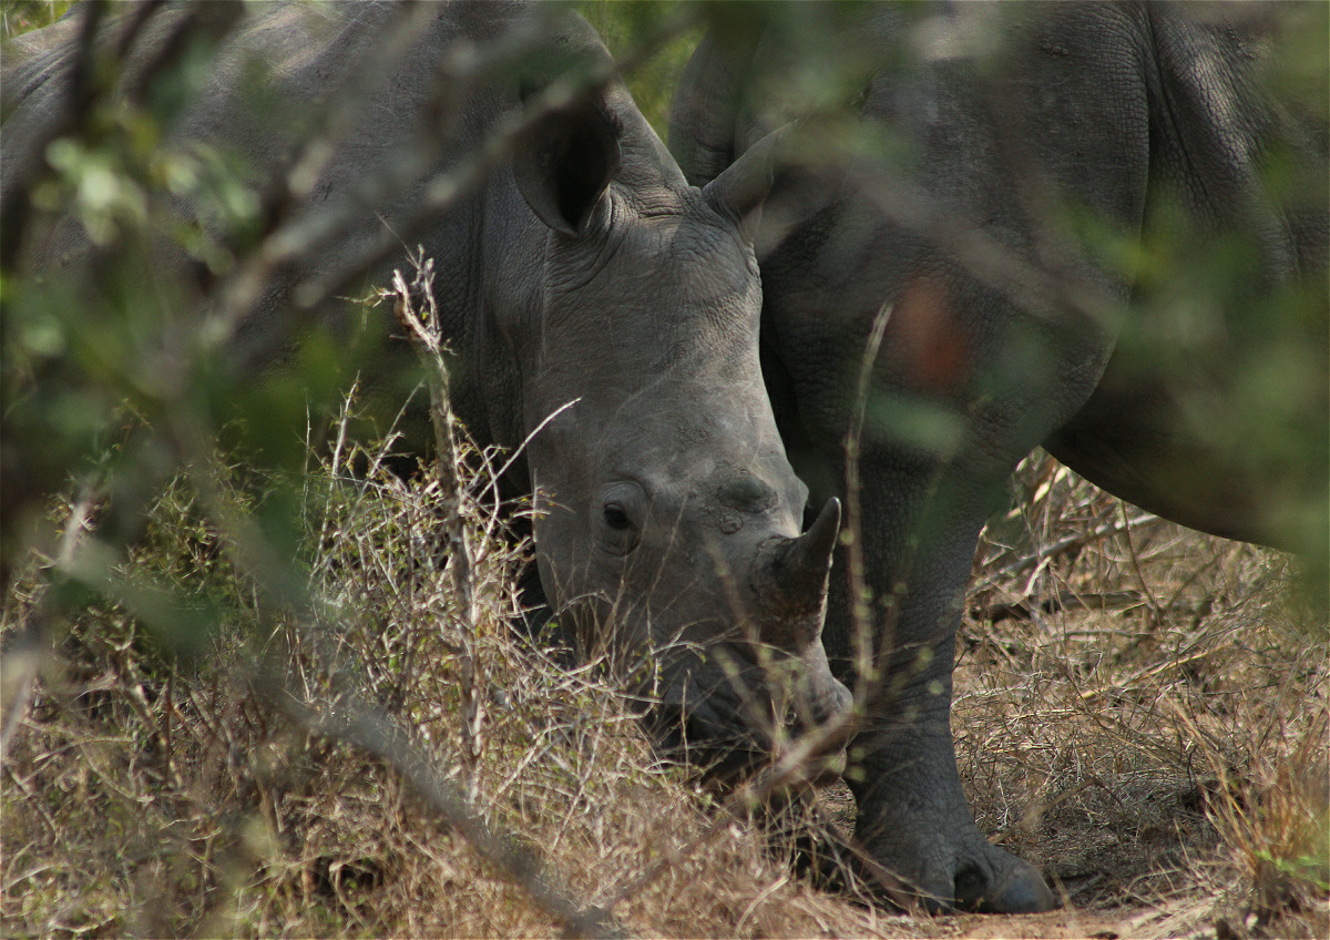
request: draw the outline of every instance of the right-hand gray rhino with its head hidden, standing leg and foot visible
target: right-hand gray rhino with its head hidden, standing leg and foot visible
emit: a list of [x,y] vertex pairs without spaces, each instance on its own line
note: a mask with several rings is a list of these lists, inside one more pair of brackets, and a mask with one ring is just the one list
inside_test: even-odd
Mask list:
[[[754,21],[746,35],[704,39],[670,128],[692,182],[798,117],[763,89],[787,84],[809,55],[782,36],[817,35],[823,12],[779,5],[783,32]],[[767,201],[763,368],[814,504],[846,495],[855,376],[875,315],[892,304],[867,398],[858,520],[882,682],[847,780],[859,840],[931,907],[1057,903],[1032,866],[975,827],[950,731],[976,538],[1032,448],[1189,527],[1323,562],[1326,137],[1261,90],[1273,37],[1250,13],[1230,4],[874,9],[827,48],[834,61],[863,57],[868,77],[850,122],[894,148],[878,162],[814,169],[803,156]],[[834,152],[826,128],[835,125],[817,120],[814,148]],[[1275,189],[1264,166],[1279,160],[1290,176]],[[934,207],[922,222],[884,207],[919,193]],[[1161,285],[1077,234],[1096,226],[1121,243],[1168,246],[1178,281],[1186,261],[1205,263],[1225,239],[1245,254],[1222,255],[1232,277],[1218,290],[1202,287],[1213,267]],[[975,262],[966,238],[976,233],[1019,265],[995,277]],[[1020,265],[1052,286],[1011,287]],[[1170,306],[1177,298],[1185,303]],[[1261,400],[1246,380],[1253,368],[1278,376]],[[837,572],[846,572],[839,552]],[[826,645],[853,687],[846,585],[833,576]]]

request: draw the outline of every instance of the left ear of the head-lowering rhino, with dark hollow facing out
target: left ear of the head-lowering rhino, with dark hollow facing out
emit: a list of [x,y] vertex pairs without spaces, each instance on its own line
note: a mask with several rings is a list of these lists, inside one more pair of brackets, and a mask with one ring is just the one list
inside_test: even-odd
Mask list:
[[618,172],[620,125],[600,96],[541,118],[519,144],[513,178],[531,211],[555,231],[581,235]]

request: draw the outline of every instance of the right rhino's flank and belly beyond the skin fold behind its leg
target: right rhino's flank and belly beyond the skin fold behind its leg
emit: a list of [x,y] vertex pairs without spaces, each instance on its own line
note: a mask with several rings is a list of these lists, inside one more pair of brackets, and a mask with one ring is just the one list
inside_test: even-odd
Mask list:
[[1048,447],[1174,521],[1323,557],[1326,126],[1271,94],[1287,36],[1261,11],[1144,15],[1141,241],[1176,270],[1137,278],[1104,375]]

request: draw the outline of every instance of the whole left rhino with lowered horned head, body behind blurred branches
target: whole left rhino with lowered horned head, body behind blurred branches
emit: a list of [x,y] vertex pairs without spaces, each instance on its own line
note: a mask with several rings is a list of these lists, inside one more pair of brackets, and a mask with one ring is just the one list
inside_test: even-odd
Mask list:
[[[225,149],[259,191],[302,124],[352,94],[356,64],[372,61],[404,21],[396,17],[414,11],[426,13],[422,32],[391,57],[298,209],[355,198],[439,133],[427,120],[444,128],[443,153],[388,199],[363,203],[350,231],[261,299],[231,344],[255,380],[294,342],[289,300],[302,285],[348,266],[386,229],[400,231],[430,181],[476,153],[556,77],[552,69],[612,72],[580,17],[521,5],[251,7],[166,146]],[[176,16],[156,20],[136,55],[161,43]],[[16,96],[4,128],[7,193],[23,142],[59,113],[68,82],[72,28],[52,31],[7,49],[5,85]],[[535,51],[519,56],[525,66],[462,89],[451,124],[427,113],[435,76],[456,61],[450,56],[532,35]],[[535,435],[505,481],[508,496],[535,495],[545,597],[585,642],[620,658],[634,689],[664,702],[656,717],[668,735],[677,742],[686,729],[692,753],[725,758],[728,768],[766,751],[773,722],[787,713],[821,722],[849,699],[821,644],[839,508],[829,503],[801,537],[806,488],[786,460],[758,364],[761,289],[742,222],[769,182],[769,160],[758,156],[704,189],[689,186],[624,85],[606,80],[539,121],[513,158],[412,238],[435,262],[455,407],[473,439],[517,448],[573,403]],[[188,202],[174,209],[197,214]],[[27,246],[24,265],[82,277],[85,257],[86,238],[66,218]],[[404,262],[399,249],[378,282]],[[169,245],[154,269],[164,285],[172,271],[193,270]],[[378,312],[391,316],[387,304]],[[344,316],[335,307],[317,314]],[[403,346],[364,368],[412,366]],[[759,666],[767,655],[779,682]]]

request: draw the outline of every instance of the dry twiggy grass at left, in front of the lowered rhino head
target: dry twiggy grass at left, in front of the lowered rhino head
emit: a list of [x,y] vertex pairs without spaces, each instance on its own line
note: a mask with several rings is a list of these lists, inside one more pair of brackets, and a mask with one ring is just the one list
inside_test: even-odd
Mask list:
[[[613,908],[633,929],[818,933],[831,911],[872,931],[871,913],[838,912],[838,899],[794,879],[754,827],[688,851],[712,827],[714,795],[654,758],[596,663],[563,669],[513,636],[520,546],[477,541],[483,616],[459,636],[434,485],[358,479],[355,463],[364,455],[340,455],[301,491],[325,612],[315,625],[246,626],[273,618],[235,578],[225,538],[184,485],[162,497],[134,566],[210,597],[226,626],[211,654],[186,663],[114,608],[69,624],[4,768],[0,932],[557,932],[392,767],[278,707],[278,686],[325,711],[346,689],[372,690],[569,895],[600,905],[633,885]],[[31,588],[13,598],[8,633],[32,600]],[[463,647],[481,703],[469,731],[458,721]],[[678,858],[657,871],[662,856]]]

